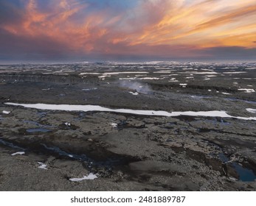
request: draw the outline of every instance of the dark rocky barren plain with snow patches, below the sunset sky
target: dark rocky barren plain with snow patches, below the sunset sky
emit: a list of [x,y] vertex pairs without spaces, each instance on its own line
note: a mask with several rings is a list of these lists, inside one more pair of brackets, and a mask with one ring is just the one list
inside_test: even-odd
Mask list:
[[256,191],[254,63],[0,66],[1,191]]

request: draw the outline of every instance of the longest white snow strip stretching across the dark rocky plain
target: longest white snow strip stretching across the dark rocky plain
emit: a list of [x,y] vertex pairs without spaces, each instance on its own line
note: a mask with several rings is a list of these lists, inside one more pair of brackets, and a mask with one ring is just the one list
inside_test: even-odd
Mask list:
[[27,108],[35,108],[38,110],[63,110],[63,111],[100,111],[111,113],[128,113],[142,116],[207,116],[207,117],[223,117],[223,118],[238,118],[243,120],[255,120],[256,117],[239,117],[229,116],[225,111],[201,111],[201,112],[172,112],[155,111],[155,110],[130,110],[130,109],[109,109],[107,107],[101,107],[97,105],[70,105],[70,104],[17,104],[17,103],[5,103],[13,106],[22,106]]

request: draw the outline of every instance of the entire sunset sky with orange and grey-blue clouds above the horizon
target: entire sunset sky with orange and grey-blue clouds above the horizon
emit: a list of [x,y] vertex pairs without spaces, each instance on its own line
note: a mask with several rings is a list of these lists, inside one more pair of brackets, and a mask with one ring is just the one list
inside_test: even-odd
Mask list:
[[0,0],[0,63],[256,61],[255,0]]

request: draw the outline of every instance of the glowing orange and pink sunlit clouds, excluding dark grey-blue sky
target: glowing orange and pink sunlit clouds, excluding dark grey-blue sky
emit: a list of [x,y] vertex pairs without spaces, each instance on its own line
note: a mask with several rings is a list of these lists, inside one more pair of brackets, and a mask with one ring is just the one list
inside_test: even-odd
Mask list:
[[47,10],[39,1],[22,1],[20,20],[3,22],[0,29],[17,38],[49,38],[85,54],[161,56],[177,53],[169,51],[173,48],[189,56],[184,50],[255,48],[255,0],[137,0],[115,13],[111,7],[93,7],[94,1],[56,0]]

